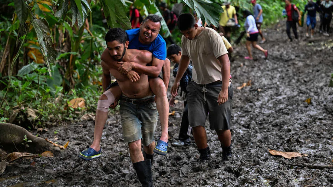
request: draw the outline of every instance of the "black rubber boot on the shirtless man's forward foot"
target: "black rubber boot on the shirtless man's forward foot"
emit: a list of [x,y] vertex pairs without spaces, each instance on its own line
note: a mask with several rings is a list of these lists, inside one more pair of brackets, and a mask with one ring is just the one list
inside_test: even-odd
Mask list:
[[137,172],[142,187],[154,187],[151,161],[144,160],[141,162],[133,163],[133,166]]

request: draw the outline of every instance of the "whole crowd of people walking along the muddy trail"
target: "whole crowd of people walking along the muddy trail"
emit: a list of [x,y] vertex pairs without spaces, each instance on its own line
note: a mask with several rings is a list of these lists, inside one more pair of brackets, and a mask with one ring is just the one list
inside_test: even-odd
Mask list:
[[[265,10],[256,0],[250,2],[252,12],[241,11],[245,20],[243,33],[246,34],[245,46],[248,51],[248,56],[244,58],[253,60],[251,46],[268,58],[268,50],[258,45],[259,36],[260,44],[267,41],[261,30]],[[207,23],[203,23],[196,12],[177,15],[164,2],[160,4],[163,17],[150,14],[145,19],[131,5],[129,17],[132,29],[124,31],[112,28],[106,33],[107,48],[101,56],[104,93],[97,102],[94,141],[88,149],[79,153],[79,157],[91,160],[101,156],[100,143],[108,109],[114,108],[120,101],[124,142],[128,143],[133,167],[143,186],[153,186],[154,154],[167,154],[169,105],[174,106],[179,87],[184,110],[178,141],[172,142],[172,145],[188,146],[192,142],[192,135],[200,154],[198,162],[209,160],[211,154],[205,127],[209,116],[209,128],[217,134],[221,158],[227,160],[232,157],[230,129],[233,90],[229,58],[233,52],[231,33],[240,25],[231,1],[225,1],[221,7],[224,12],[220,15],[219,25],[209,24],[206,27]],[[320,14],[319,29],[324,36],[329,36],[332,9],[330,0],[316,3],[308,1],[304,9],[307,12],[306,37],[314,37],[316,12]],[[302,16],[299,9],[290,0],[285,0],[283,12],[289,40],[293,41],[291,28],[295,39],[299,39],[297,23]],[[170,32],[178,29],[182,34],[181,46],[174,44],[171,36],[163,39],[159,34],[163,19]],[[171,44],[168,48],[167,42]],[[175,81],[171,87],[172,96],[168,100],[166,91],[170,61],[174,63]],[[163,78],[159,76],[161,71]],[[111,75],[117,82],[111,83]],[[155,142],[158,115],[162,132],[160,139]]]

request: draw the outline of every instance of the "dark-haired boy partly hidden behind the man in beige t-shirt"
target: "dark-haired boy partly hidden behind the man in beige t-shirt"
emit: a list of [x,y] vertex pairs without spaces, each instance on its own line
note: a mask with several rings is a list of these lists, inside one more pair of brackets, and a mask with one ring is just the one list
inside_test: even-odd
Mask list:
[[[178,72],[178,63],[181,58],[181,48],[176,45],[172,44],[170,45],[166,50],[166,56],[172,61],[175,65],[173,66],[173,77],[176,77]],[[192,65],[189,64],[187,67],[187,70],[185,71],[183,77],[180,79],[180,95],[183,97],[184,100],[184,111],[183,116],[181,118],[181,125],[179,130],[179,136],[177,142],[171,143],[173,146],[183,146],[183,145],[190,145],[190,134],[192,131],[192,127],[188,124],[188,110],[187,110],[187,91],[186,87],[189,82],[191,82],[192,79]],[[172,96],[169,104],[170,106],[174,106],[174,99],[175,97]]]

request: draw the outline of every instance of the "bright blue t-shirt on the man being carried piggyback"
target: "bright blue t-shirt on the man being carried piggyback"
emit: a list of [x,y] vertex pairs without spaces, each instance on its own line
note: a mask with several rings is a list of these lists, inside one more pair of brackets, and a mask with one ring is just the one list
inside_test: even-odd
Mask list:
[[140,29],[130,29],[126,31],[128,41],[130,42],[128,49],[147,50],[153,53],[153,56],[160,60],[166,60],[166,41],[160,34],[150,44],[142,44],[139,42]]

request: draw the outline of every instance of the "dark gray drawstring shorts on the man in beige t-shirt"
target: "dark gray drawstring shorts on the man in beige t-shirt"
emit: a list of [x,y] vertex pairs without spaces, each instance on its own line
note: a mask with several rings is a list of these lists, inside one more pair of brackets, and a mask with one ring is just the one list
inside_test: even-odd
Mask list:
[[230,129],[233,96],[231,82],[228,87],[228,100],[218,105],[217,97],[221,91],[221,87],[222,82],[210,83],[208,85],[199,85],[194,82],[188,84],[186,87],[188,93],[187,107],[188,120],[191,127],[204,126],[209,112],[210,129]]

